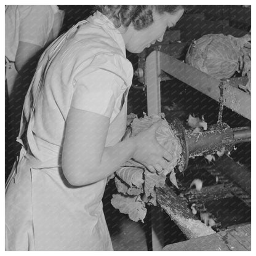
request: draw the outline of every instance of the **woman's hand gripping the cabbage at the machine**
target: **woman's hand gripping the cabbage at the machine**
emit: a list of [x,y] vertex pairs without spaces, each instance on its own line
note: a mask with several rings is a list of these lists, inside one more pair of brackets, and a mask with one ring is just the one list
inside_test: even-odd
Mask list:
[[[156,130],[161,121],[152,124],[134,137],[135,152],[133,158],[146,166],[150,172],[161,172],[172,159],[172,154],[165,150],[156,140]],[[167,160],[167,161],[166,161]]]

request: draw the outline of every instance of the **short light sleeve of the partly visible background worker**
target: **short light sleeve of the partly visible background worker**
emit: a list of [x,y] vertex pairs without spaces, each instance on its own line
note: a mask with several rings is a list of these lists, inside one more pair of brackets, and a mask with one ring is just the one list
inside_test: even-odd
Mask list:
[[44,47],[49,37],[54,14],[50,6],[19,6],[19,41]]

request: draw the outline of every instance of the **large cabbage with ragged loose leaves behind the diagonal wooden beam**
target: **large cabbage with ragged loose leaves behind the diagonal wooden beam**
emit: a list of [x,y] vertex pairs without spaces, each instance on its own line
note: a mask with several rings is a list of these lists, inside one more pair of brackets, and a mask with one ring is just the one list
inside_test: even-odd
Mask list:
[[194,41],[186,54],[186,63],[214,78],[231,78],[238,71],[248,77],[241,89],[250,93],[251,36],[241,38],[224,34],[206,34]]

